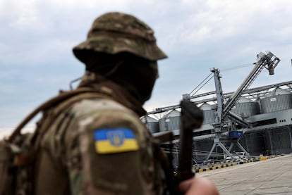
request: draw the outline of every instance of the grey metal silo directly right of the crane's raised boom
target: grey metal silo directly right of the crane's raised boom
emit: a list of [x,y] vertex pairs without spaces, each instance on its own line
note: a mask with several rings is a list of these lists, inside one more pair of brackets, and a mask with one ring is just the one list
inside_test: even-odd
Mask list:
[[236,106],[231,109],[231,112],[240,115],[243,118],[248,118],[251,115],[260,114],[260,104],[249,99],[240,99]]

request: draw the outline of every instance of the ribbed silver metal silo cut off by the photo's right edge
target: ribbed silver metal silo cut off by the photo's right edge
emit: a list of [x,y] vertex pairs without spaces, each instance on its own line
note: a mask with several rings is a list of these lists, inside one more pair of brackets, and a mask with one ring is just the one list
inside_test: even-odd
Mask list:
[[284,111],[292,108],[292,94],[284,89],[276,88],[267,97],[260,100],[262,113]]

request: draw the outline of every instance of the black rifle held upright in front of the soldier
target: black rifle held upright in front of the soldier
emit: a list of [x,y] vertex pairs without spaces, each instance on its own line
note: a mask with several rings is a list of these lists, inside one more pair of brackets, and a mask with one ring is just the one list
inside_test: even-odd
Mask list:
[[203,113],[200,108],[197,108],[189,99],[183,99],[181,101],[181,134],[179,138],[180,146],[176,176],[174,176],[174,168],[172,165],[172,160],[174,158],[172,155],[172,140],[174,139],[172,132],[166,132],[155,137],[160,140],[160,143],[166,141],[170,142],[169,149],[171,152],[168,155],[169,162],[162,162],[162,164],[164,164],[163,167],[166,173],[166,183],[168,186],[164,194],[179,194],[178,191],[176,191],[179,182],[183,182],[195,176],[195,173],[192,171],[193,130],[200,128],[202,121]]

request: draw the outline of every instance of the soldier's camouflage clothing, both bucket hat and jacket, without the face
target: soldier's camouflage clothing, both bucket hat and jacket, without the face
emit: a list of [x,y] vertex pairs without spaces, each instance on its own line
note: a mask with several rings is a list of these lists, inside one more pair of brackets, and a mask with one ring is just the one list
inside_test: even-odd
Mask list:
[[[87,51],[166,58],[153,34],[132,15],[107,13],[73,52],[84,63]],[[162,194],[164,174],[140,121],[141,103],[115,82],[94,82],[96,76],[86,72],[78,87],[95,93],[44,111],[36,136],[35,194]]]

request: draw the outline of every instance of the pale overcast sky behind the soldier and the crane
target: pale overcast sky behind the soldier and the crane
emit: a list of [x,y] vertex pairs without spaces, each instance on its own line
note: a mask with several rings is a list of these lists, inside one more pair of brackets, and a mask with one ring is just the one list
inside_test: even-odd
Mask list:
[[[0,131],[83,75],[72,48],[108,11],[150,25],[169,56],[159,61],[147,111],[177,104],[213,67],[221,70],[224,92],[235,91],[260,51],[272,51],[281,62],[275,75],[264,70],[251,87],[291,80],[291,0],[0,0]],[[202,92],[214,91],[210,82]]]

